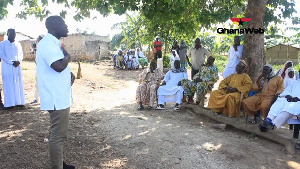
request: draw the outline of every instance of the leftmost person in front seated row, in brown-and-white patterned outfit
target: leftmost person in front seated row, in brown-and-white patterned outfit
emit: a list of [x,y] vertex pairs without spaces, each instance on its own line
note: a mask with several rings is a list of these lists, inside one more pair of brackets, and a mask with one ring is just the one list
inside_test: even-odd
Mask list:
[[136,90],[136,101],[139,104],[139,110],[143,110],[145,104],[148,104],[148,109],[153,108],[157,98],[156,91],[163,76],[163,72],[157,68],[155,61],[151,61],[150,68],[144,69],[139,75],[141,83]]

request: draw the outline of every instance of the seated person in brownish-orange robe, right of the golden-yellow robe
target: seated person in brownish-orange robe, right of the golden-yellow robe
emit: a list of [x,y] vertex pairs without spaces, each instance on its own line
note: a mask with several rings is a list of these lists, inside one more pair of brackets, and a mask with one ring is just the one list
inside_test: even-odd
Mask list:
[[[284,90],[283,79],[281,76],[275,76],[273,67],[267,64],[263,67],[262,74],[257,78],[252,90],[259,93],[243,100],[244,109],[249,115],[255,115],[258,110],[261,110],[265,119],[272,103]],[[255,120],[254,118],[252,123]]]

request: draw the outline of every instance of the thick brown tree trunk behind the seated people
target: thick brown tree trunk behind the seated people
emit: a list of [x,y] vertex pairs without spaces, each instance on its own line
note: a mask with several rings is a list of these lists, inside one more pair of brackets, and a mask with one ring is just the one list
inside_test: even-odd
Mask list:
[[[245,28],[263,28],[268,0],[248,0],[246,18],[252,18]],[[265,61],[264,34],[245,34],[243,59],[248,63],[248,74],[255,82],[262,72]]]

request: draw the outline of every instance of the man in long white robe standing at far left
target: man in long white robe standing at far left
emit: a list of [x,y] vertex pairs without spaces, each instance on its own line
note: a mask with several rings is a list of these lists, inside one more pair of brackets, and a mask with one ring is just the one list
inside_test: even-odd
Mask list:
[[16,105],[23,107],[25,94],[21,67],[22,46],[19,42],[15,42],[16,32],[14,29],[7,30],[7,37],[7,40],[0,43],[4,107],[12,108]]

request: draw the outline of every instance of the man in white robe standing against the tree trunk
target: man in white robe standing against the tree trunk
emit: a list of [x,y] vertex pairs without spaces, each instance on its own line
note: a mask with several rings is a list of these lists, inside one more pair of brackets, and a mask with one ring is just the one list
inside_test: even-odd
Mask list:
[[227,76],[235,73],[235,67],[239,64],[242,53],[243,53],[243,45],[240,44],[241,39],[239,36],[234,37],[234,44],[228,50],[228,62],[225,66],[224,72],[222,74],[225,79]]

